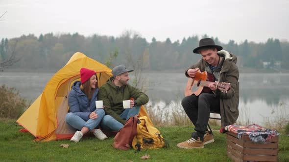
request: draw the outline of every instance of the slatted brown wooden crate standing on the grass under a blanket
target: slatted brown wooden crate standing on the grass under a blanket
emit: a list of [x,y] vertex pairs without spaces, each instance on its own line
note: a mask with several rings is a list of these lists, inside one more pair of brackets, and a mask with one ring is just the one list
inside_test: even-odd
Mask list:
[[227,156],[235,162],[277,162],[277,154],[278,137],[273,137],[270,142],[254,143],[247,134],[238,139],[237,134],[227,133]]

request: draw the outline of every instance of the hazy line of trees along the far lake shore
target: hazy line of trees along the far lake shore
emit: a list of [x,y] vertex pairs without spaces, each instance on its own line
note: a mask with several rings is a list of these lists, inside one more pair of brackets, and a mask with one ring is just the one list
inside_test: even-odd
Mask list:
[[[202,38],[207,38],[207,35]],[[222,43],[211,37],[216,44],[238,57],[239,67],[264,68],[264,62],[289,69],[289,42],[269,38],[264,42],[230,40]],[[178,70],[185,69],[198,61],[200,55],[193,54],[201,38],[191,36],[181,42],[157,41],[153,38],[146,41],[136,33],[124,32],[119,37],[93,35],[84,37],[78,33],[41,34],[39,37],[30,34],[19,38],[3,38],[0,42],[0,61],[5,61],[12,53],[18,59],[11,69],[23,70],[56,70],[63,67],[75,52],[81,52],[101,63],[110,62],[111,66],[125,64],[130,66],[137,62],[145,70]],[[112,56],[115,56],[114,60]]]

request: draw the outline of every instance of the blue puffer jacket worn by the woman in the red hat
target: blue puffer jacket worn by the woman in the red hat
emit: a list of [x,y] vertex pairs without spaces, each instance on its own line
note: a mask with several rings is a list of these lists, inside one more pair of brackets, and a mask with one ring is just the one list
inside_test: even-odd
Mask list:
[[72,90],[68,95],[69,112],[75,113],[84,121],[89,120],[89,114],[96,110],[98,88],[89,103],[87,96],[80,89],[81,81],[72,84]]

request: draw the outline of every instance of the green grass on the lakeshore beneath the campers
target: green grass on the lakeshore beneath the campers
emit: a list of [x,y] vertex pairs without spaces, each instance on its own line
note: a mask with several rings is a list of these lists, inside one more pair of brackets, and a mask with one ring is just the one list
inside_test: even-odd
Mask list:
[[[0,119],[0,157],[2,162],[140,162],[145,154],[150,155],[146,161],[158,162],[232,162],[227,157],[226,135],[220,134],[215,127],[215,142],[205,145],[203,149],[180,149],[178,142],[190,138],[193,126],[163,126],[157,127],[169,142],[169,148],[142,150],[135,152],[113,148],[113,137],[99,141],[95,137],[85,137],[80,142],[69,140],[34,142],[30,133],[19,132],[21,126],[12,125],[13,120]],[[10,126],[10,127],[9,127]],[[8,127],[8,128],[7,128]],[[214,128],[214,127],[213,127]],[[289,160],[289,137],[284,131],[279,131],[279,162]],[[60,144],[70,144],[69,148],[62,148]]]

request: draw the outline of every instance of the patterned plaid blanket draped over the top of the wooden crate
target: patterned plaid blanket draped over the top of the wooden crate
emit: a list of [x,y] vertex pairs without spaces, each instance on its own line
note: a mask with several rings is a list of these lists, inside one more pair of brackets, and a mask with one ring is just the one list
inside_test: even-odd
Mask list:
[[241,139],[243,133],[247,134],[253,142],[267,142],[271,141],[272,137],[279,136],[276,130],[266,129],[257,124],[252,125],[228,125],[225,127],[226,131],[237,134],[238,139]]

